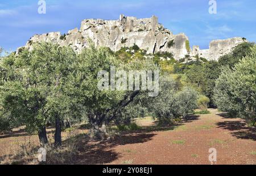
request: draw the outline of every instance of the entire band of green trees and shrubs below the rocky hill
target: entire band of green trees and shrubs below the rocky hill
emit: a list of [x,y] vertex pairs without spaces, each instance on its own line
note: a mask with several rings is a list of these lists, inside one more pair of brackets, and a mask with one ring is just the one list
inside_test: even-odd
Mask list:
[[[61,131],[72,131],[72,123],[86,122],[92,137],[105,139],[110,124],[117,125],[118,131],[134,131],[141,127],[133,120],[150,114],[159,125],[170,125],[197,107],[203,111],[195,114],[209,114],[208,105],[255,125],[253,45],[242,43],[218,62],[198,58],[183,64],[175,61],[173,53],[147,55],[136,44],[117,52],[90,44],[80,54],[57,44],[33,44],[32,52],[23,48],[18,56],[1,57],[0,132],[26,125],[26,131],[37,133],[46,145],[46,127],[51,126],[59,146]],[[122,70],[159,70],[159,95],[98,90],[97,74],[109,72],[110,65]]]

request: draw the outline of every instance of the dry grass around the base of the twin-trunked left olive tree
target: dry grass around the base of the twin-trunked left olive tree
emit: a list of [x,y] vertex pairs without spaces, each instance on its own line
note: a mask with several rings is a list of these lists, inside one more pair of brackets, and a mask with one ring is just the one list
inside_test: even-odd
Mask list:
[[[77,148],[79,143],[79,137],[81,133],[71,131],[65,136],[63,145],[56,148],[51,138],[49,139],[49,145],[46,146],[46,162],[38,161],[38,149],[40,148],[36,143],[32,143],[31,140],[24,140],[24,142],[17,144],[10,144],[9,152],[0,158],[0,164],[3,165],[19,165],[19,164],[72,164],[75,161],[77,154]],[[10,150],[11,149],[11,150]]]

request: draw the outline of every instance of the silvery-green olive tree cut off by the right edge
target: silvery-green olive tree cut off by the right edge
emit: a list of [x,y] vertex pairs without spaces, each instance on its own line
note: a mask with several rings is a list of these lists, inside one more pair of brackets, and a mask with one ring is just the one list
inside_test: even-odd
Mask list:
[[233,69],[222,68],[216,81],[214,102],[222,111],[256,121],[256,47]]

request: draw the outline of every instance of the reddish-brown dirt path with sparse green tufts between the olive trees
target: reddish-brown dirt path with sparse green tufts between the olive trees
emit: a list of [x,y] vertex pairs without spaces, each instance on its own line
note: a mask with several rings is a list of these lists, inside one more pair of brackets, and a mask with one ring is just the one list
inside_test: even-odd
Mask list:
[[[79,164],[210,164],[209,148],[217,149],[217,164],[256,164],[256,131],[241,119],[211,114],[192,116],[175,128],[146,128],[114,141],[90,143]],[[148,123],[148,121],[145,121]]]

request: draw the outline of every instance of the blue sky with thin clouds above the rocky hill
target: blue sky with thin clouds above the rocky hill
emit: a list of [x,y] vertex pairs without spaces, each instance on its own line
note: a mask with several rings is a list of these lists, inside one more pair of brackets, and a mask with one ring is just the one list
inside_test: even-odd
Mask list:
[[256,1],[216,0],[217,14],[209,14],[208,0],[46,0],[46,14],[38,14],[38,0],[0,0],[0,46],[15,51],[36,33],[78,27],[82,19],[118,19],[119,14],[149,18],[172,32],[184,32],[192,45],[206,49],[214,39],[241,36],[256,41]]

